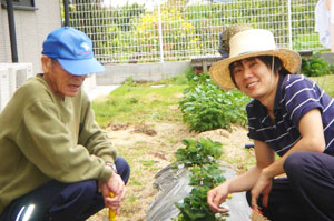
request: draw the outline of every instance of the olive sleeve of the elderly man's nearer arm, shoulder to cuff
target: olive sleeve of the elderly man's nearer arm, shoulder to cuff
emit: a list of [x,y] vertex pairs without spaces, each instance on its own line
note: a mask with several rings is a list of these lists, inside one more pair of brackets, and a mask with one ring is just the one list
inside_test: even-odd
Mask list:
[[104,159],[71,140],[53,102],[37,101],[23,110],[17,143],[24,157],[48,177],[61,182],[108,180]]

